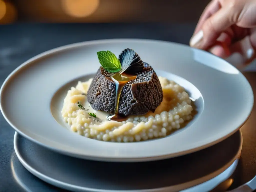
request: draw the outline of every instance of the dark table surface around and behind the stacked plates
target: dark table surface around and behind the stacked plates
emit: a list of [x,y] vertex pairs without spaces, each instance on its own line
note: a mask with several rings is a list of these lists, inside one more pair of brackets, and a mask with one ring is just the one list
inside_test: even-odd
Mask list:
[[[0,85],[16,67],[46,50],[80,41],[143,38],[188,44],[196,23],[190,24],[15,24],[0,26]],[[256,95],[256,72],[244,72]],[[256,107],[241,127],[243,147],[234,182],[236,188],[256,175]],[[63,191],[31,175],[17,160],[14,130],[0,113],[0,191]],[[23,179],[19,179],[23,178]],[[25,190],[26,188],[26,190]]]

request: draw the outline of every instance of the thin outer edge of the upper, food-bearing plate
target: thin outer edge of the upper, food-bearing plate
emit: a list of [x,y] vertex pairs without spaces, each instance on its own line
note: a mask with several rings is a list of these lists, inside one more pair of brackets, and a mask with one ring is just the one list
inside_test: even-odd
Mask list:
[[[2,107],[2,103],[1,103],[1,100],[2,100],[2,97],[3,97],[3,90],[5,89],[6,85],[8,84],[8,81],[10,79],[12,79],[12,77],[18,73],[20,70],[23,69],[23,67],[26,67],[26,66],[29,66],[31,65],[32,63],[34,63],[35,61],[37,61],[38,59],[41,59],[42,57],[45,57],[45,56],[50,56],[52,54],[56,54],[60,51],[63,51],[63,50],[68,50],[68,49],[72,49],[74,47],[82,47],[82,46],[88,46],[88,45],[96,45],[96,44],[101,44],[101,43],[114,43],[114,42],[161,42],[161,43],[165,43],[165,44],[176,44],[176,45],[179,45],[179,46],[183,46],[183,47],[189,47],[187,45],[184,45],[184,44],[179,44],[179,43],[175,43],[175,42],[170,42],[170,41],[163,41],[163,40],[152,40],[152,39],[99,39],[99,40],[91,40],[91,41],[83,41],[83,42],[77,42],[77,43],[73,43],[73,44],[69,44],[69,45],[64,45],[64,46],[60,46],[60,47],[57,47],[57,48],[53,48],[53,49],[50,49],[50,50],[47,50],[45,52],[42,52],[41,54],[38,54],[30,59],[28,59],[27,61],[25,61],[24,63],[22,63],[20,66],[18,66],[14,71],[12,71],[8,76],[7,78],[5,79],[5,81],[3,82],[1,88],[0,88],[0,111],[2,112],[5,120],[8,122],[8,124],[10,126],[13,127],[13,129],[15,131],[17,131],[20,135],[24,136],[25,138],[29,139],[30,141],[33,141],[39,145],[42,145],[44,147],[47,147],[49,148],[50,150],[53,150],[53,151],[56,151],[56,152],[59,152],[59,153],[62,153],[62,154],[66,154],[66,155],[69,155],[69,156],[73,156],[73,157],[79,157],[79,158],[86,158],[86,159],[90,159],[90,160],[97,160],[97,161],[109,161],[109,162],[142,162],[142,161],[153,161],[153,160],[161,160],[161,159],[166,159],[166,158],[172,158],[172,157],[177,157],[177,156],[182,156],[182,155],[185,155],[185,154],[189,154],[189,153],[192,153],[192,152],[196,152],[196,151],[199,151],[199,150],[202,150],[202,149],[205,149],[207,147],[210,147],[212,145],[215,145],[223,140],[225,140],[226,138],[228,138],[230,135],[234,134],[237,130],[239,130],[243,125],[244,123],[246,123],[246,121],[249,119],[251,113],[252,113],[252,109],[253,109],[253,104],[254,104],[254,97],[253,97],[253,91],[252,91],[252,88],[251,86],[250,87],[250,92],[251,92],[251,95],[252,95],[252,101],[251,101],[251,109],[250,109],[250,112],[247,116],[247,118],[243,121],[243,123],[241,123],[237,129],[235,129],[234,131],[230,132],[229,134],[215,140],[214,142],[210,142],[208,144],[205,144],[205,145],[201,145],[200,147],[195,147],[195,148],[192,148],[192,149],[189,149],[189,150],[184,150],[184,151],[181,151],[181,152],[177,152],[177,153],[171,153],[171,154],[167,154],[167,155],[159,155],[159,156],[150,156],[150,157],[101,157],[101,156],[96,156],[96,155],[93,155],[93,156],[90,156],[90,155],[85,155],[85,154],[80,154],[80,153],[73,153],[71,151],[65,151],[64,149],[62,148],[56,148],[56,147],[52,147],[52,146],[48,146],[44,143],[41,143],[39,141],[37,141],[35,138],[32,138],[28,135],[26,135],[25,133],[21,132],[16,126],[14,126],[11,121],[7,118],[6,114],[4,113],[4,110],[3,110],[3,107]],[[193,49],[193,50],[197,50],[197,51],[200,51],[200,52],[205,52],[204,54],[209,54],[208,52],[204,51],[204,50],[198,50],[198,49],[195,49],[195,48],[191,48],[189,47],[190,49]],[[225,61],[224,59],[222,58],[219,58],[223,61]],[[226,61],[227,62],[227,61]],[[228,63],[228,62],[227,62]],[[230,63],[228,63],[229,65],[231,65]],[[232,65],[231,65],[232,66]],[[234,67],[234,66],[232,66]],[[239,71],[240,75],[247,81],[247,83],[250,85],[250,83],[248,82],[248,80],[246,79],[246,77],[244,77],[244,75]]]

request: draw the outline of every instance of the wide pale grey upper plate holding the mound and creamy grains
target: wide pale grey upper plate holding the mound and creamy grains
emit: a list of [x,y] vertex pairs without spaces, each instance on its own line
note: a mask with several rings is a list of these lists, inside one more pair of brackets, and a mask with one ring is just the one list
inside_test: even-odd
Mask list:
[[[198,114],[178,132],[146,142],[103,142],[66,129],[60,110],[68,88],[97,71],[97,51],[118,55],[125,48],[133,48],[158,76],[185,87]],[[136,162],[180,156],[224,140],[247,120],[253,92],[236,68],[205,51],[165,41],[112,39],[67,45],[28,60],[3,83],[0,102],[7,122],[40,145],[85,159]]]

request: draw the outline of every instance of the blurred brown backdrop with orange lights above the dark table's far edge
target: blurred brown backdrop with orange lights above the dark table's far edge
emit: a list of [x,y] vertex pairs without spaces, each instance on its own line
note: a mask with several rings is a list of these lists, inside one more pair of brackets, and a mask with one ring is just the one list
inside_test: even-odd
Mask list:
[[196,22],[210,0],[0,0],[0,23]]

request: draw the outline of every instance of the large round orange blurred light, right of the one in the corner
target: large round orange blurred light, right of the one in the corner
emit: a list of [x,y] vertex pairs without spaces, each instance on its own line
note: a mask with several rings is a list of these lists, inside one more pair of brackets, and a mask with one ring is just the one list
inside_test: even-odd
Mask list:
[[61,5],[65,13],[72,17],[86,17],[97,10],[99,0],[62,0]]

